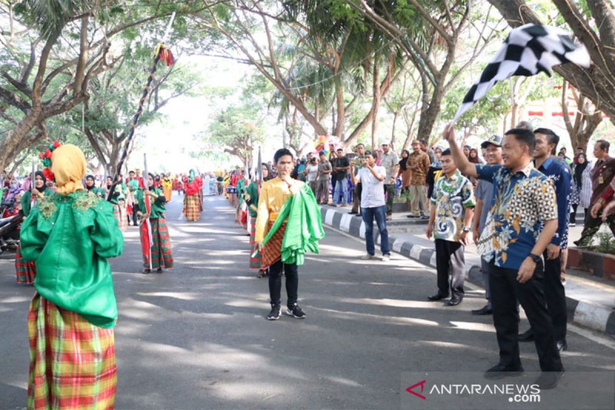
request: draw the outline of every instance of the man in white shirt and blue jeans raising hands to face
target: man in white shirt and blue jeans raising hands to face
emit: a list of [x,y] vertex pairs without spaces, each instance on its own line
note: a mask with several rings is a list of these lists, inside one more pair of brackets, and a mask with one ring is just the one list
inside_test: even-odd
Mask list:
[[376,255],[374,245],[374,218],[380,232],[380,250],[383,253],[383,261],[389,261],[391,250],[389,249],[389,232],[386,229],[386,202],[384,200],[384,178],[386,170],[376,165],[376,158],[370,151],[365,151],[362,160],[362,168],[354,175],[355,164],[351,163],[352,183],[361,183],[361,215],[365,224],[365,247],[367,254],[361,259],[373,259]]

